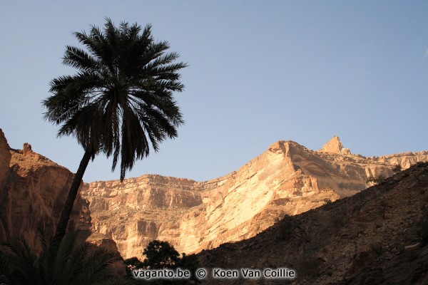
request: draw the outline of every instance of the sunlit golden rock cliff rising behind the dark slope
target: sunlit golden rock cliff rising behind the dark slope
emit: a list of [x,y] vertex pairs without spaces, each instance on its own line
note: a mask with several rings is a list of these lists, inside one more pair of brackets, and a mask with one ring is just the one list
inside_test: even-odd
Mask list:
[[255,236],[284,214],[300,214],[366,188],[367,177],[392,175],[428,161],[428,152],[352,155],[337,137],[321,150],[292,141],[270,145],[236,172],[206,182],[143,175],[83,185],[92,229],[116,241],[123,257],[141,257],[153,239],[199,252]]

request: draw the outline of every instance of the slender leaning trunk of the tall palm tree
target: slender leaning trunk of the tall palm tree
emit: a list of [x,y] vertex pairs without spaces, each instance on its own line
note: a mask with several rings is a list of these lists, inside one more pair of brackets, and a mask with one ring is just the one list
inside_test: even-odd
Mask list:
[[76,199],[78,193],[78,187],[81,185],[83,174],[85,174],[85,170],[88,166],[89,160],[91,160],[91,156],[92,152],[86,150],[80,165],[78,165],[78,170],[76,175],[74,175],[70,190],[68,190],[66,204],[64,204],[61,216],[59,217],[58,225],[56,226],[55,239],[57,241],[61,241],[63,236],[66,234],[68,220],[70,219],[71,209],[73,209],[74,200]]

